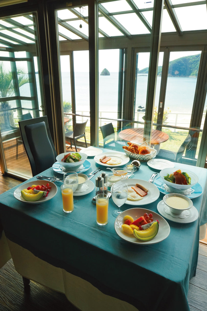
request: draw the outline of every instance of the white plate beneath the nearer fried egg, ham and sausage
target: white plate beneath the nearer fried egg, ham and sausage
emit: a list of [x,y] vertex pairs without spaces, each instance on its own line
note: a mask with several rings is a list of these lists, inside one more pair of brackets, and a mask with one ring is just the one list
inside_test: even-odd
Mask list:
[[132,178],[132,179],[124,179],[122,182],[126,183],[128,185],[128,187],[130,187],[130,188],[132,186],[135,186],[136,183],[140,183],[142,186],[146,187],[149,190],[147,195],[144,196],[141,200],[131,201],[131,200],[127,199],[125,204],[136,205],[136,206],[137,205],[145,205],[145,204],[149,204],[149,203],[156,201],[160,196],[159,189],[153,183],[149,183],[146,180],[133,179]]

